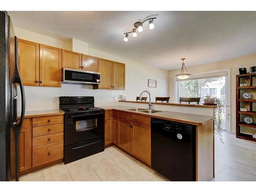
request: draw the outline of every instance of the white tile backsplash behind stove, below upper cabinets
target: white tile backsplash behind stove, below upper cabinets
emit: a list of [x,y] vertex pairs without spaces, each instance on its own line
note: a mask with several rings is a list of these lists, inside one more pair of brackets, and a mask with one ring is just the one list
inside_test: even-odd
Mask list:
[[[125,90],[93,90],[92,86],[62,84],[61,88],[25,86],[26,111],[59,108],[59,96],[94,96],[95,106],[113,105],[125,95]],[[18,87],[18,93],[19,87]],[[20,94],[18,95],[20,103]],[[18,105],[18,111],[21,106]]]

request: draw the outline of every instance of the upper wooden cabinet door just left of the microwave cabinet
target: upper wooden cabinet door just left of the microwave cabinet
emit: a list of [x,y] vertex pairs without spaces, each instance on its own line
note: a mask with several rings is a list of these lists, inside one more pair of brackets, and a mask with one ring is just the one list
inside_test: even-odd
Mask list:
[[40,44],[40,86],[61,87],[61,49]]

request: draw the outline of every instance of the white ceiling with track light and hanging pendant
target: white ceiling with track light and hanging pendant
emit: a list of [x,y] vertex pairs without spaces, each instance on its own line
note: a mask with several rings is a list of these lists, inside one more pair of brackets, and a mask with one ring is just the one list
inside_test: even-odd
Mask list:
[[[256,53],[256,12],[9,11],[16,27],[88,42],[90,48],[166,70]],[[158,14],[138,37],[123,41],[137,20]]]

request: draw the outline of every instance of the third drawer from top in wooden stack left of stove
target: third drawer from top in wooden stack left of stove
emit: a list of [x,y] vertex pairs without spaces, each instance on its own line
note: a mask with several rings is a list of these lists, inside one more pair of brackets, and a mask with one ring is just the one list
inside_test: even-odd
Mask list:
[[33,138],[33,147],[63,141],[63,133],[55,133]]

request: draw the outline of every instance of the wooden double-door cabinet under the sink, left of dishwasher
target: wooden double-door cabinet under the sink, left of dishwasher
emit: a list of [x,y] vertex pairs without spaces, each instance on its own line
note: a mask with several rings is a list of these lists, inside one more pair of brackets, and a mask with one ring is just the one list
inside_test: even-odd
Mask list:
[[[132,118],[129,115],[131,114],[124,115],[124,112],[114,111],[113,143],[145,164],[151,165],[150,118],[141,115]],[[126,119],[117,117],[125,117]]]

